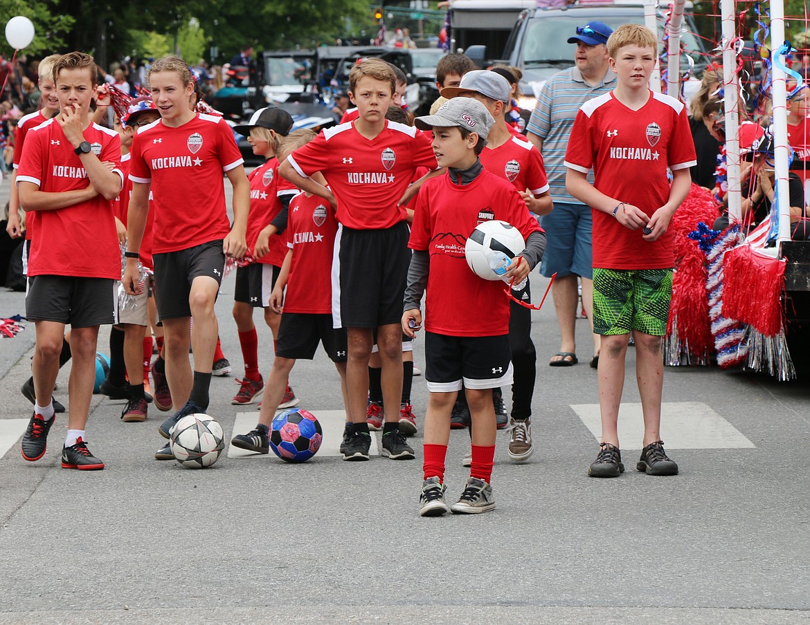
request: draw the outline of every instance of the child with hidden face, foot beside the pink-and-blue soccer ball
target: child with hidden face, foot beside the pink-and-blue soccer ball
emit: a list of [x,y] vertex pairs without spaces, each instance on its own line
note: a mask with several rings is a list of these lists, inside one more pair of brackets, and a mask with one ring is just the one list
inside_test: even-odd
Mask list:
[[[315,133],[311,130],[290,133],[280,147],[279,157],[283,160],[292,150],[305,146],[313,138]],[[313,174],[313,179],[320,184],[326,182],[320,173]],[[290,371],[296,359],[312,360],[318,343],[323,345],[338,369],[348,418],[346,331],[332,327],[329,267],[337,230],[335,209],[322,197],[304,192],[292,198],[286,230],[288,252],[271,294],[273,314],[281,315],[273,370],[267,377],[258,424],[249,433],[233,437],[231,444],[234,447],[259,454],[268,452],[270,425],[275,411],[281,407]],[[345,441],[345,432],[343,438]]]

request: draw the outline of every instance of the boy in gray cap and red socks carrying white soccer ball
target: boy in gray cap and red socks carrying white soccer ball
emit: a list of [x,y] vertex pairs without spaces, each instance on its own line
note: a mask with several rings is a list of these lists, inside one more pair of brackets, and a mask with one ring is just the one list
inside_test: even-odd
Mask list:
[[445,175],[422,185],[416,200],[413,250],[403,303],[407,336],[422,325],[425,300],[425,370],[428,410],[424,417],[424,482],[420,514],[437,516],[445,504],[445,456],[450,414],[464,386],[472,417],[470,479],[450,510],[483,513],[495,508],[492,463],[497,432],[492,389],[512,383],[509,304],[504,284],[484,281],[465,260],[467,237],[482,216],[512,224],[526,239],[526,250],[509,264],[514,281],[528,276],[543,255],[545,234],[526,202],[505,179],[484,169],[479,154],[494,120],[471,98],[445,102],[435,115],[416,118],[416,127],[433,129],[433,150]]

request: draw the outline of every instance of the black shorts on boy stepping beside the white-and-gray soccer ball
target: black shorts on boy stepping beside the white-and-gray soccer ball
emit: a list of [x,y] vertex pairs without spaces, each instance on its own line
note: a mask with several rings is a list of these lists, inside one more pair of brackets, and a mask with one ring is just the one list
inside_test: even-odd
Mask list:
[[167,251],[152,256],[155,263],[155,303],[160,319],[191,316],[191,282],[210,276],[222,284],[225,253],[222,239],[202,243],[185,250]]

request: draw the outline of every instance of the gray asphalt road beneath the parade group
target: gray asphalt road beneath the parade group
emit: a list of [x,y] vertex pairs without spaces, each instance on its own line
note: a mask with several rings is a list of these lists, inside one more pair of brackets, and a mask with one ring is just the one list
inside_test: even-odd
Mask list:
[[[7,182],[3,202],[6,193]],[[542,293],[544,279],[531,280]],[[212,380],[209,409],[228,439],[237,412],[249,412],[230,403],[241,367],[232,293],[231,276],[216,310],[234,374]],[[22,293],[0,292],[0,317],[23,312]],[[0,445],[0,623],[810,622],[807,378],[667,368],[662,436],[680,475],[655,478],[634,470],[629,349],[627,472],[589,479],[598,395],[586,321],[580,364],[552,368],[551,298],[533,315],[534,456],[509,462],[501,433],[497,509],[428,519],[418,516],[421,433],[416,462],[223,457],[190,471],[152,459],[162,413],[124,424],[122,403],[96,395],[88,439],[104,471],[60,468],[64,416],[45,458],[25,462],[15,431],[31,414],[19,386],[33,327],[0,339],[0,443],[11,438]],[[267,372],[270,332],[256,320]],[[56,392],[65,403],[68,370]],[[302,408],[341,408],[322,353],[291,382]],[[413,399],[421,424],[424,378]],[[467,441],[452,433],[451,496],[467,475]]]

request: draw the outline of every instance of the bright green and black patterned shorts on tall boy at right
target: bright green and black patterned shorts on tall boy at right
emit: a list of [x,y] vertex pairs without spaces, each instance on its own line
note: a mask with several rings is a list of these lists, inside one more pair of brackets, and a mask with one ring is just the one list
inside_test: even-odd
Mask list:
[[594,268],[594,332],[667,334],[671,269]]

